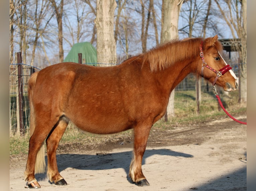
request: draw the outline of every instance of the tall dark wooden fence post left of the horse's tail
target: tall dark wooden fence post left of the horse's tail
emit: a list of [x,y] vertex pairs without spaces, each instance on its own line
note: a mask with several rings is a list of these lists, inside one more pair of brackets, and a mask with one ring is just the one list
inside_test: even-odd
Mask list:
[[22,82],[22,57],[21,57],[21,52],[16,53],[16,58],[17,58],[17,64],[18,64],[19,127],[20,127],[20,134],[23,134],[24,133],[24,124],[23,124],[23,82]]

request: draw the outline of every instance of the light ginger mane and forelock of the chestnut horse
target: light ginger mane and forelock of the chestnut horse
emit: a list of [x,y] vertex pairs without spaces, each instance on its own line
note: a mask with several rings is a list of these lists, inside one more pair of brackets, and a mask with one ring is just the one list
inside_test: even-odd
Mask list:
[[[184,61],[199,56],[199,46],[203,38],[187,38],[183,40],[172,40],[166,44],[157,46],[141,55],[143,64],[148,62],[151,71],[164,70],[176,62]],[[222,45],[219,41],[214,43],[219,52],[222,51]],[[204,41],[203,50],[209,48],[207,39]]]

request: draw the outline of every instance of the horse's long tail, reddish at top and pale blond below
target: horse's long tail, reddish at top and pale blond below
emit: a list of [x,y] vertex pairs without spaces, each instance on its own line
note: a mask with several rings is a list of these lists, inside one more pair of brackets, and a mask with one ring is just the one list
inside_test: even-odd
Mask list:
[[[33,105],[33,91],[35,87],[35,82],[37,78],[38,72],[35,72],[31,75],[28,81],[28,97],[29,97],[29,105],[30,105],[30,121],[29,121],[29,134],[32,136],[35,130],[35,116],[34,116],[34,105]],[[44,173],[45,172],[45,150],[44,143],[42,143],[40,149],[37,152],[36,161],[35,161],[35,173]]]

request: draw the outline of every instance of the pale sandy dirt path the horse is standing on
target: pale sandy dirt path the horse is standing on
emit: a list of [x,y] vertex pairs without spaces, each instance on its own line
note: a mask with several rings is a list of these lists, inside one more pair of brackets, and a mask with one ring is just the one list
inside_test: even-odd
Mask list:
[[[246,121],[246,115],[236,117]],[[58,168],[68,185],[51,185],[45,174],[37,174],[40,190],[246,190],[246,125],[232,119],[161,132],[152,129],[142,166],[148,187],[138,187],[128,178],[132,140],[120,141],[86,152],[60,149]],[[25,163],[26,156],[10,160],[10,190],[27,190]]]

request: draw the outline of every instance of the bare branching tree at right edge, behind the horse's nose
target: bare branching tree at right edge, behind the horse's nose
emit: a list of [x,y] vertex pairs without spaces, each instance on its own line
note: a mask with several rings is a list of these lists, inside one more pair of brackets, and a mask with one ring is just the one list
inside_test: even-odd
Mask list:
[[[238,38],[241,41],[241,46],[236,46],[240,57],[241,77],[239,79],[241,102],[247,100],[247,0],[214,0],[217,4],[221,17],[226,21],[231,30],[234,39]],[[226,8],[226,9],[225,9]]]

